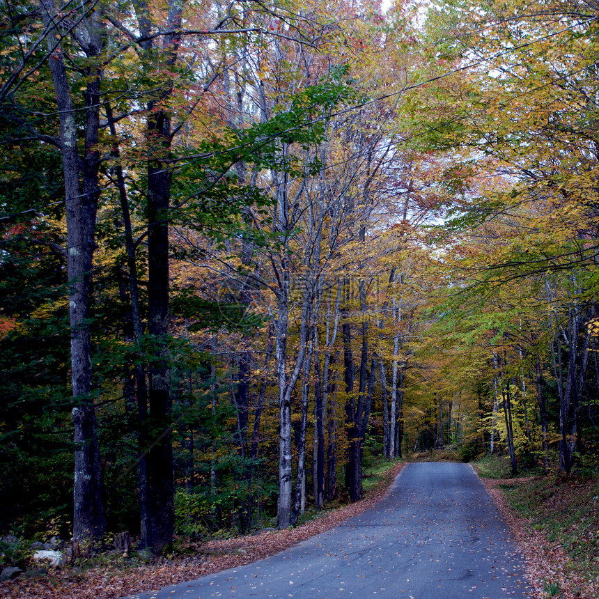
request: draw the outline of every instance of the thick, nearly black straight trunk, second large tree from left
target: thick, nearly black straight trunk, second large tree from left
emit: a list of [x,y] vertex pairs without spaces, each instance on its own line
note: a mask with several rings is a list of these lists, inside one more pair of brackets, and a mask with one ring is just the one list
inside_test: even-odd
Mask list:
[[[151,547],[160,554],[171,544],[174,533],[173,447],[171,440],[172,398],[169,371],[169,208],[172,171],[162,162],[171,148],[171,116],[164,108],[173,91],[168,70],[178,57],[176,34],[162,37],[162,48],[150,36],[152,24],[145,0],[135,4],[139,30],[147,40],[140,42],[144,60],[160,77],[160,88],[148,101],[146,143],[148,145],[148,331],[153,338],[154,359],[150,361],[148,385],[148,497],[151,512]],[[182,5],[169,0],[166,6],[167,26],[181,26]],[[164,71],[155,70],[156,54],[164,57]]]

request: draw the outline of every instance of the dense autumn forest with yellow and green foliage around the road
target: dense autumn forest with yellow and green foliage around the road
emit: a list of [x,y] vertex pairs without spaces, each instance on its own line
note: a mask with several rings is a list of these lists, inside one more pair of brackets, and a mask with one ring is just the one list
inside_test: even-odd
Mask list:
[[414,453],[598,464],[596,0],[0,16],[0,534],[158,556]]

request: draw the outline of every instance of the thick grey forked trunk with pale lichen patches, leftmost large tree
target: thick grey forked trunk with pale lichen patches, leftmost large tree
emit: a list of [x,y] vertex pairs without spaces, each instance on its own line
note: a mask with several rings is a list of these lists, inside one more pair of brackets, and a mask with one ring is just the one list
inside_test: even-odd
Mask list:
[[[77,119],[72,104],[70,81],[61,52],[61,32],[56,29],[57,9],[53,0],[41,1],[42,19],[49,29],[47,46],[51,55],[56,105],[59,111],[61,153],[65,178],[67,223],[67,265],[69,279],[69,316],[71,336],[72,421],[75,429],[75,485],[73,492],[73,536],[99,537],[106,528],[102,500],[102,466],[93,403],[91,359],[91,285],[95,223],[100,188],[98,185],[100,132],[100,72],[97,66],[87,69],[86,130],[84,158],[77,149]],[[89,17],[90,41],[85,48],[88,58],[100,53],[96,13]],[[81,178],[83,185],[81,185]],[[81,193],[82,192],[82,193]]]

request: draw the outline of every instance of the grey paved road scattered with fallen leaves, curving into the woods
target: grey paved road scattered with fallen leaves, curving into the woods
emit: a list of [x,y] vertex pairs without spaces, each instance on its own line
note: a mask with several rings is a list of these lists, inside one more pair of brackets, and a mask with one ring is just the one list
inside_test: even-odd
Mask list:
[[274,557],[136,599],[527,596],[522,556],[465,464],[408,464],[376,506]]

